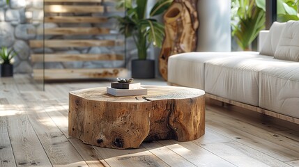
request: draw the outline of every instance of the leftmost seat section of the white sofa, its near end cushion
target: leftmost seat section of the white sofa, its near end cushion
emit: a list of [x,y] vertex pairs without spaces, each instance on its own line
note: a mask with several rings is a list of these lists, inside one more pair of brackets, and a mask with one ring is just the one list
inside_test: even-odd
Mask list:
[[204,90],[204,63],[226,57],[255,57],[256,51],[190,52],[176,54],[168,59],[168,82]]

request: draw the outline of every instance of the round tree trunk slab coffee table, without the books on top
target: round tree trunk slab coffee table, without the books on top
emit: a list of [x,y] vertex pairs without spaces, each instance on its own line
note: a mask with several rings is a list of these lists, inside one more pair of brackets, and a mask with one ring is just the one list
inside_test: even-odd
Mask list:
[[68,133],[104,148],[139,148],[143,141],[192,141],[205,132],[204,90],[143,86],[148,95],[114,97],[106,87],[69,94]]

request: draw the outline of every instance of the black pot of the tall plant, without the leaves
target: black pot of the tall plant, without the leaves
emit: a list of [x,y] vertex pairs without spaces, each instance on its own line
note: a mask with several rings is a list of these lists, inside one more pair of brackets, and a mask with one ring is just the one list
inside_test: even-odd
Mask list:
[[150,79],[155,78],[155,61],[153,60],[133,60],[132,78]]

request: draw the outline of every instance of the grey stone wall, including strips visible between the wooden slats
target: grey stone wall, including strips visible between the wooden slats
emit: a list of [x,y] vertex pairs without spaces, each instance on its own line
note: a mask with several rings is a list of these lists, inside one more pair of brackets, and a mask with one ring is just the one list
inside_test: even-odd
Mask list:
[[[111,6],[111,3],[103,5]],[[85,13],[93,16],[110,16],[123,15],[123,13]],[[51,15],[58,15],[52,13]],[[77,13],[68,13],[66,15],[77,15]],[[55,62],[55,63],[31,63],[31,54],[61,53],[61,54],[124,54],[123,47],[72,47],[72,48],[30,48],[29,40],[61,40],[61,39],[124,39],[123,35],[119,35],[116,31],[112,31],[111,35],[37,35],[27,33],[29,30],[36,32],[37,29],[47,29],[53,27],[68,27],[73,24],[54,24],[45,23],[43,25],[43,0],[10,0],[10,4],[6,4],[6,0],[0,0],[0,46],[13,48],[17,51],[14,58],[15,73],[31,74],[33,69],[43,68],[102,68],[102,67],[129,67],[125,65],[125,61],[75,61],[75,62]],[[76,24],[75,26],[100,26],[116,29],[116,22],[110,20],[106,24]],[[129,39],[130,40],[130,39]],[[127,61],[130,62],[135,57],[135,45],[131,45],[132,40],[128,42]]]

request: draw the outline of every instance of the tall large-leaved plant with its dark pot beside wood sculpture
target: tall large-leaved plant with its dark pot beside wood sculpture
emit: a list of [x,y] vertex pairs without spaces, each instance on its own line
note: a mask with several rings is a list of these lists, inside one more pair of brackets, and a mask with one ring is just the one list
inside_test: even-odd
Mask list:
[[146,17],[147,0],[121,0],[120,6],[125,7],[126,15],[117,16],[119,31],[125,38],[132,37],[137,47],[138,59],[132,61],[133,78],[155,77],[155,61],[147,59],[147,49],[153,44],[162,47],[164,39],[164,26],[153,16],[164,13],[172,0],[160,0],[151,9]]

